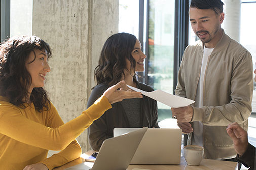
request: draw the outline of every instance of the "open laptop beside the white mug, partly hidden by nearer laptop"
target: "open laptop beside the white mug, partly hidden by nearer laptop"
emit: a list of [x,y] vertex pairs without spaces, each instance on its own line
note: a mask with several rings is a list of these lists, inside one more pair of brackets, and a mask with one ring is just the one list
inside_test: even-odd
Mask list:
[[[141,128],[114,128],[114,137]],[[130,164],[180,164],[181,129],[147,129]]]

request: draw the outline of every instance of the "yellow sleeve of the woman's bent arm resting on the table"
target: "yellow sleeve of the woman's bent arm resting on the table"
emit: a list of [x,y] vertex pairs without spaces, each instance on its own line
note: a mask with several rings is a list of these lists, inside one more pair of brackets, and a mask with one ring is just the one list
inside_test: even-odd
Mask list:
[[[64,122],[60,118],[56,108],[51,105],[51,109],[49,111],[49,114],[47,115],[46,126],[51,128],[57,128],[63,124]],[[75,139],[65,149],[45,160],[42,160],[40,163],[45,164],[50,170],[54,167],[58,167],[72,160],[75,160],[76,158],[80,157],[81,153],[81,147]]]

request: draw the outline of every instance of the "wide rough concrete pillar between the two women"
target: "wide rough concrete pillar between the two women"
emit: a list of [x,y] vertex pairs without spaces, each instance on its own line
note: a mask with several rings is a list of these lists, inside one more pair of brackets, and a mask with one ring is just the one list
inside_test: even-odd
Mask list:
[[[66,123],[86,109],[100,50],[118,32],[118,0],[34,0],[32,32],[52,48],[45,88]],[[87,130],[77,140],[90,150]]]

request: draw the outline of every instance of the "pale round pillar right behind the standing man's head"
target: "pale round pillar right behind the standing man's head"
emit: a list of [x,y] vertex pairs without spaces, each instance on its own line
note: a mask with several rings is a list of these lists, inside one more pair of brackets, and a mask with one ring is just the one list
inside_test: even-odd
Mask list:
[[224,30],[237,42],[240,41],[241,0],[225,0]]

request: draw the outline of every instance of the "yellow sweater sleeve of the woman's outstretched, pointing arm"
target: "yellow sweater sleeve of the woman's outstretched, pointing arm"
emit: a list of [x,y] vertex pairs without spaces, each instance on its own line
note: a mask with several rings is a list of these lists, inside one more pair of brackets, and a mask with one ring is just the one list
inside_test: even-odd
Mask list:
[[56,128],[23,117],[20,110],[8,102],[3,102],[0,107],[0,133],[35,147],[63,150],[111,108],[111,104],[102,96],[80,116]]

